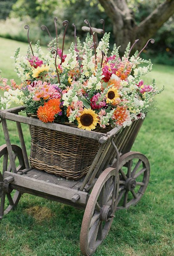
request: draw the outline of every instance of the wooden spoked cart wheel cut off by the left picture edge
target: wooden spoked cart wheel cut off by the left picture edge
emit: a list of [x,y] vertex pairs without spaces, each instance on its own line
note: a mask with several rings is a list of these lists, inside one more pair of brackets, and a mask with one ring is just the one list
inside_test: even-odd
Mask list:
[[[15,156],[17,171],[25,169],[21,148],[16,145],[12,145],[12,150]],[[5,171],[11,172],[6,144],[0,147],[0,162],[2,163],[1,165],[2,172],[0,171],[0,220],[1,220],[4,214],[7,214],[17,205],[21,197],[21,193],[17,190],[12,190],[10,188],[10,184],[8,186],[8,189],[7,187],[6,189],[3,188],[4,172]]]

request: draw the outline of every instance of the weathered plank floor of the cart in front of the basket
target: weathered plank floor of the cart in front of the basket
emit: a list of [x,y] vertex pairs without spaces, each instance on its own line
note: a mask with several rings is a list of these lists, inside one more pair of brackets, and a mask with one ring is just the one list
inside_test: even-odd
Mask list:
[[81,186],[84,180],[84,178],[81,178],[80,180],[67,180],[64,177],[57,176],[53,173],[47,173],[45,171],[37,169],[32,169],[23,175],[37,180],[47,181],[49,183],[53,183],[56,185],[65,186],[67,188],[73,188],[76,190]]

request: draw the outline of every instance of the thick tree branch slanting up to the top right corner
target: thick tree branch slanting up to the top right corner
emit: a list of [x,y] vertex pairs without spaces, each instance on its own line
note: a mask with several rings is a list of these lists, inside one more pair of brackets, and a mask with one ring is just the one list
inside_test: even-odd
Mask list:
[[174,0],[166,0],[160,4],[137,27],[137,36],[149,38],[174,14]]

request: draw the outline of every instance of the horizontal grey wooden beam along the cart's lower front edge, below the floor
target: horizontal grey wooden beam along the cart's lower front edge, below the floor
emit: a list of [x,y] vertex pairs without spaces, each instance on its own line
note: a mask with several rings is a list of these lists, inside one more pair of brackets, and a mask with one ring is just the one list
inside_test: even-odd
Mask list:
[[26,175],[5,172],[4,177],[6,178],[8,176],[14,177],[14,181],[11,182],[11,184],[15,184],[23,188],[28,188],[31,190],[35,190],[38,192],[46,193],[49,195],[53,195],[53,196],[68,199],[68,200],[71,200],[75,194],[79,194],[80,199],[78,202],[84,203],[84,204],[86,204],[88,200],[88,193],[83,191],[77,191],[71,188],[59,186],[46,181],[40,181],[38,179],[27,177]]

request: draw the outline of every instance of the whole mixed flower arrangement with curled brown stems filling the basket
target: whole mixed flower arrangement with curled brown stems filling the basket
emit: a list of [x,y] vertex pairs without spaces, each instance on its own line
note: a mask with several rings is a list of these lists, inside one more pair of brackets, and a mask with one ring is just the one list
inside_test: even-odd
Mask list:
[[[63,25],[66,33],[68,21]],[[29,32],[27,25],[25,28]],[[76,37],[67,54],[63,53],[64,47],[59,48],[57,30],[47,54],[39,41],[34,51],[29,41],[26,56],[21,56],[18,48],[14,61],[21,84],[10,80],[8,85],[7,79],[0,77],[0,88],[5,90],[1,108],[9,108],[15,101],[43,122],[69,122],[85,130],[96,126],[125,127],[133,120],[143,119],[154,108],[154,96],[164,89],[158,90],[155,80],[150,85],[142,80],[152,70],[151,61],[140,57],[147,44],[130,57],[138,40],[132,47],[129,43],[121,58],[119,46],[114,45],[109,52],[110,33],[104,33],[97,46],[90,29],[91,35],[83,44]]]

